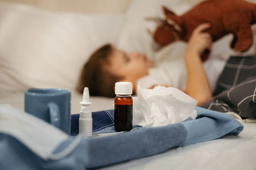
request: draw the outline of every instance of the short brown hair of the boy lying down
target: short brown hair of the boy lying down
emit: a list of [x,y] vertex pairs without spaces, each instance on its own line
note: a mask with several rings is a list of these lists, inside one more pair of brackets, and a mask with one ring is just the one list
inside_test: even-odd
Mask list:
[[108,71],[109,55],[113,46],[104,45],[96,50],[84,64],[77,84],[77,91],[83,93],[84,87],[88,87],[91,96],[115,96],[115,82],[122,77]]

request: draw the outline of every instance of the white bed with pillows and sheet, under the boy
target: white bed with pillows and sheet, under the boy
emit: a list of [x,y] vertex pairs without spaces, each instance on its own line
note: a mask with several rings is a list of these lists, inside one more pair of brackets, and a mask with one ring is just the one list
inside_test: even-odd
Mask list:
[[[127,1],[125,1],[127,3]],[[127,51],[146,53],[155,62],[172,61],[183,55],[186,44],[167,46],[160,52],[150,48],[146,29],[155,25],[145,17],[163,17],[165,4],[177,14],[197,1],[133,0],[123,13],[77,13],[50,11],[26,4],[0,3],[0,104],[24,110],[24,90],[62,88],[72,92],[71,113],[79,113],[81,94],[76,92],[79,71],[90,53],[105,43]],[[113,2],[112,2],[113,3]],[[115,2],[116,3],[116,2]],[[145,5],[146,4],[146,5]],[[147,8],[145,8],[145,6]],[[159,8],[156,8],[159,6]],[[143,10],[141,10],[143,9]],[[234,52],[230,35],[214,43],[205,64],[212,90],[225,63]],[[244,55],[255,54],[255,43]],[[90,97],[92,111],[113,109],[113,99]],[[101,169],[255,169],[256,124],[239,120],[244,130],[238,136],[173,148],[141,159]]]

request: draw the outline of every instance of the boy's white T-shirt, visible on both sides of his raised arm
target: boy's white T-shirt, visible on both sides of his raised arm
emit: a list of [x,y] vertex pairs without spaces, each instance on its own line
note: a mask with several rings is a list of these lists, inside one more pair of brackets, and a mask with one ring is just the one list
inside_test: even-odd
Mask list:
[[[210,58],[204,62],[205,74],[213,91],[216,81],[225,67],[225,60]],[[166,85],[186,90],[187,73],[183,58],[171,62],[162,62],[157,67],[152,67],[147,76],[140,78],[137,83],[143,88],[150,88],[156,85]]]

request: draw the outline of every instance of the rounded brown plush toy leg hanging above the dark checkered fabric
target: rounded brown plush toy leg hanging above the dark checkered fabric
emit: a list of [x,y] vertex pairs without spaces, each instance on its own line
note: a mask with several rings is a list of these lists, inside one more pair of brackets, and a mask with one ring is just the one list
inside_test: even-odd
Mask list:
[[231,48],[236,52],[245,52],[253,43],[253,32],[250,24],[243,24],[239,26],[238,31],[234,32],[234,39],[231,43]]

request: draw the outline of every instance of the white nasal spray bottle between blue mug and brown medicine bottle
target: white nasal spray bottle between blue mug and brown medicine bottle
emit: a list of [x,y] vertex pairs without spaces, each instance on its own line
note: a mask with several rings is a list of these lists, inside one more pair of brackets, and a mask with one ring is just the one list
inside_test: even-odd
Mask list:
[[89,101],[88,87],[84,87],[83,101],[80,102],[81,110],[79,117],[79,135],[84,137],[92,136],[92,111]]

